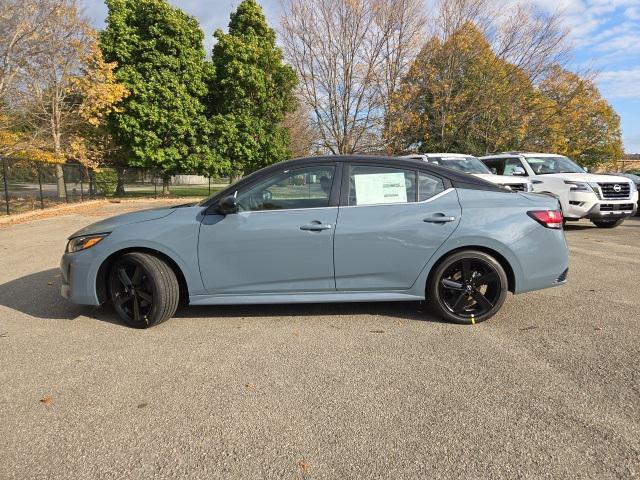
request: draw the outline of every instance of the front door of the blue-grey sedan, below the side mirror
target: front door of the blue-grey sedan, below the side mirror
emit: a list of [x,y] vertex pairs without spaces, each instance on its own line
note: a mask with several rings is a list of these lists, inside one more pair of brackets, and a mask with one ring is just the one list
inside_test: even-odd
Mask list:
[[198,244],[207,291],[334,291],[337,174],[338,164],[278,170],[236,192],[237,213],[207,215]]

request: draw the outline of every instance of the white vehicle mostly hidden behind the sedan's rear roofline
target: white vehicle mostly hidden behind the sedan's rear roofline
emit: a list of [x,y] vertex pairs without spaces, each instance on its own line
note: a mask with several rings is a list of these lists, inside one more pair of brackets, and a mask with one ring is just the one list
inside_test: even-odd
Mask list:
[[405,158],[423,160],[428,163],[433,163],[434,165],[453,168],[460,172],[475,175],[476,177],[500,185],[508,190],[516,192],[533,191],[533,185],[526,178],[496,175],[495,172],[492,172],[484,163],[472,155],[464,155],[461,153],[422,153],[406,155]]

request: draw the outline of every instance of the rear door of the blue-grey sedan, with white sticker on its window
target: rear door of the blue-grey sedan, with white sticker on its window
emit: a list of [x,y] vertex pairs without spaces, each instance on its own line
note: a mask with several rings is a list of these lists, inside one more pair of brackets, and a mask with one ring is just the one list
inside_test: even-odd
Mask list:
[[351,164],[334,240],[338,290],[406,290],[460,222],[448,181],[426,172]]

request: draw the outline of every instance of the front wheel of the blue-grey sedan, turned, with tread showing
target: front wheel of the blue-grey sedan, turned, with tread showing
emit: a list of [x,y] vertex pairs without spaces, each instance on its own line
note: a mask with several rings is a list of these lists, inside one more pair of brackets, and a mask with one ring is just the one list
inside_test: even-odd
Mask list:
[[171,318],[180,287],[163,260],[141,252],[118,258],[109,273],[109,293],[120,319],[130,327],[148,328]]

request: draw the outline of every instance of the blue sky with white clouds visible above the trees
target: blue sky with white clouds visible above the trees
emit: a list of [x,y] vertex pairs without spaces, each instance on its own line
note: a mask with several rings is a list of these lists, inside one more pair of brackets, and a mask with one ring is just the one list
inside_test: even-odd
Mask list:
[[[217,28],[226,29],[229,14],[240,0],[170,0],[194,15],[205,33],[207,51]],[[272,26],[280,17],[280,0],[259,0]],[[499,1],[499,0],[498,0]],[[622,119],[627,153],[640,153],[640,0],[505,0],[532,2],[550,13],[560,11],[577,71],[594,72],[604,97]],[[104,27],[107,9],[103,0],[79,0],[96,28]]]

